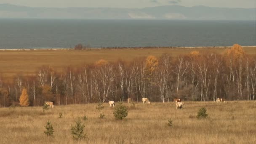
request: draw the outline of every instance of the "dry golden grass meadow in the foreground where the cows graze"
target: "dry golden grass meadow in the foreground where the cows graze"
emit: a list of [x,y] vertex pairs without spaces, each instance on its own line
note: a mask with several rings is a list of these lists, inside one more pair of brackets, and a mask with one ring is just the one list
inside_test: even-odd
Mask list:
[[[184,102],[135,104],[124,120],[115,120],[113,108],[96,109],[97,104],[0,108],[0,144],[255,144],[256,101],[227,103]],[[130,107],[130,104],[125,104]],[[197,110],[207,109],[208,119],[197,120]],[[59,112],[63,118],[58,118]],[[106,115],[100,119],[99,114]],[[83,141],[72,139],[70,126],[87,115]],[[168,126],[168,118],[173,126]],[[54,137],[47,137],[44,125],[50,120]]]

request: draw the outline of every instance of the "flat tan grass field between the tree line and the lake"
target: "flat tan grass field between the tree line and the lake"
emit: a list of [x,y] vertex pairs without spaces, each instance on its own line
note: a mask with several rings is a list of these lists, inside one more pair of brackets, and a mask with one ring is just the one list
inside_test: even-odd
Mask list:
[[[67,66],[81,66],[99,59],[132,61],[134,58],[149,55],[161,56],[171,53],[176,57],[191,51],[214,51],[223,53],[225,48],[151,48],[151,49],[93,49],[91,51],[38,50],[38,51],[0,51],[0,74],[13,76],[30,75],[42,65],[51,65],[57,71]],[[256,54],[256,47],[244,47],[247,54]]]

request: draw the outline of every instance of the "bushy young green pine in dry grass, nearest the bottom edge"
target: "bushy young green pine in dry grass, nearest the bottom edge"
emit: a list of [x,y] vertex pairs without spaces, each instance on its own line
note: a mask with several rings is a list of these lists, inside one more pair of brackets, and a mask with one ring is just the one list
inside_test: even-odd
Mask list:
[[75,121],[75,125],[71,125],[71,134],[73,135],[73,139],[80,140],[84,139],[86,134],[83,133],[83,128],[85,125],[80,121],[80,119]]

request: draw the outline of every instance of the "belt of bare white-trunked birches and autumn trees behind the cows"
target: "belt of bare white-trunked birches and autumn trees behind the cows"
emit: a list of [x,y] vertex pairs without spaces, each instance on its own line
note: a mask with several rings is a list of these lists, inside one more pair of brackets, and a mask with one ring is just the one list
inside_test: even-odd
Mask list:
[[178,57],[163,54],[112,63],[101,59],[63,72],[42,66],[35,75],[17,75],[11,83],[4,79],[0,77],[1,107],[19,105],[23,89],[30,106],[42,106],[44,101],[67,105],[142,97],[161,102],[255,100],[256,56],[246,55],[235,44],[224,54],[192,51]]

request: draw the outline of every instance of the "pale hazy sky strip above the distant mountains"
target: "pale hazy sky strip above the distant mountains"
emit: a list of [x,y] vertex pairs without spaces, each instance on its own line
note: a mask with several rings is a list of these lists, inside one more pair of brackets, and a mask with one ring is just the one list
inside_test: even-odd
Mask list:
[[205,5],[227,8],[256,8],[256,0],[0,0],[0,3],[33,7],[144,8],[159,5]]

